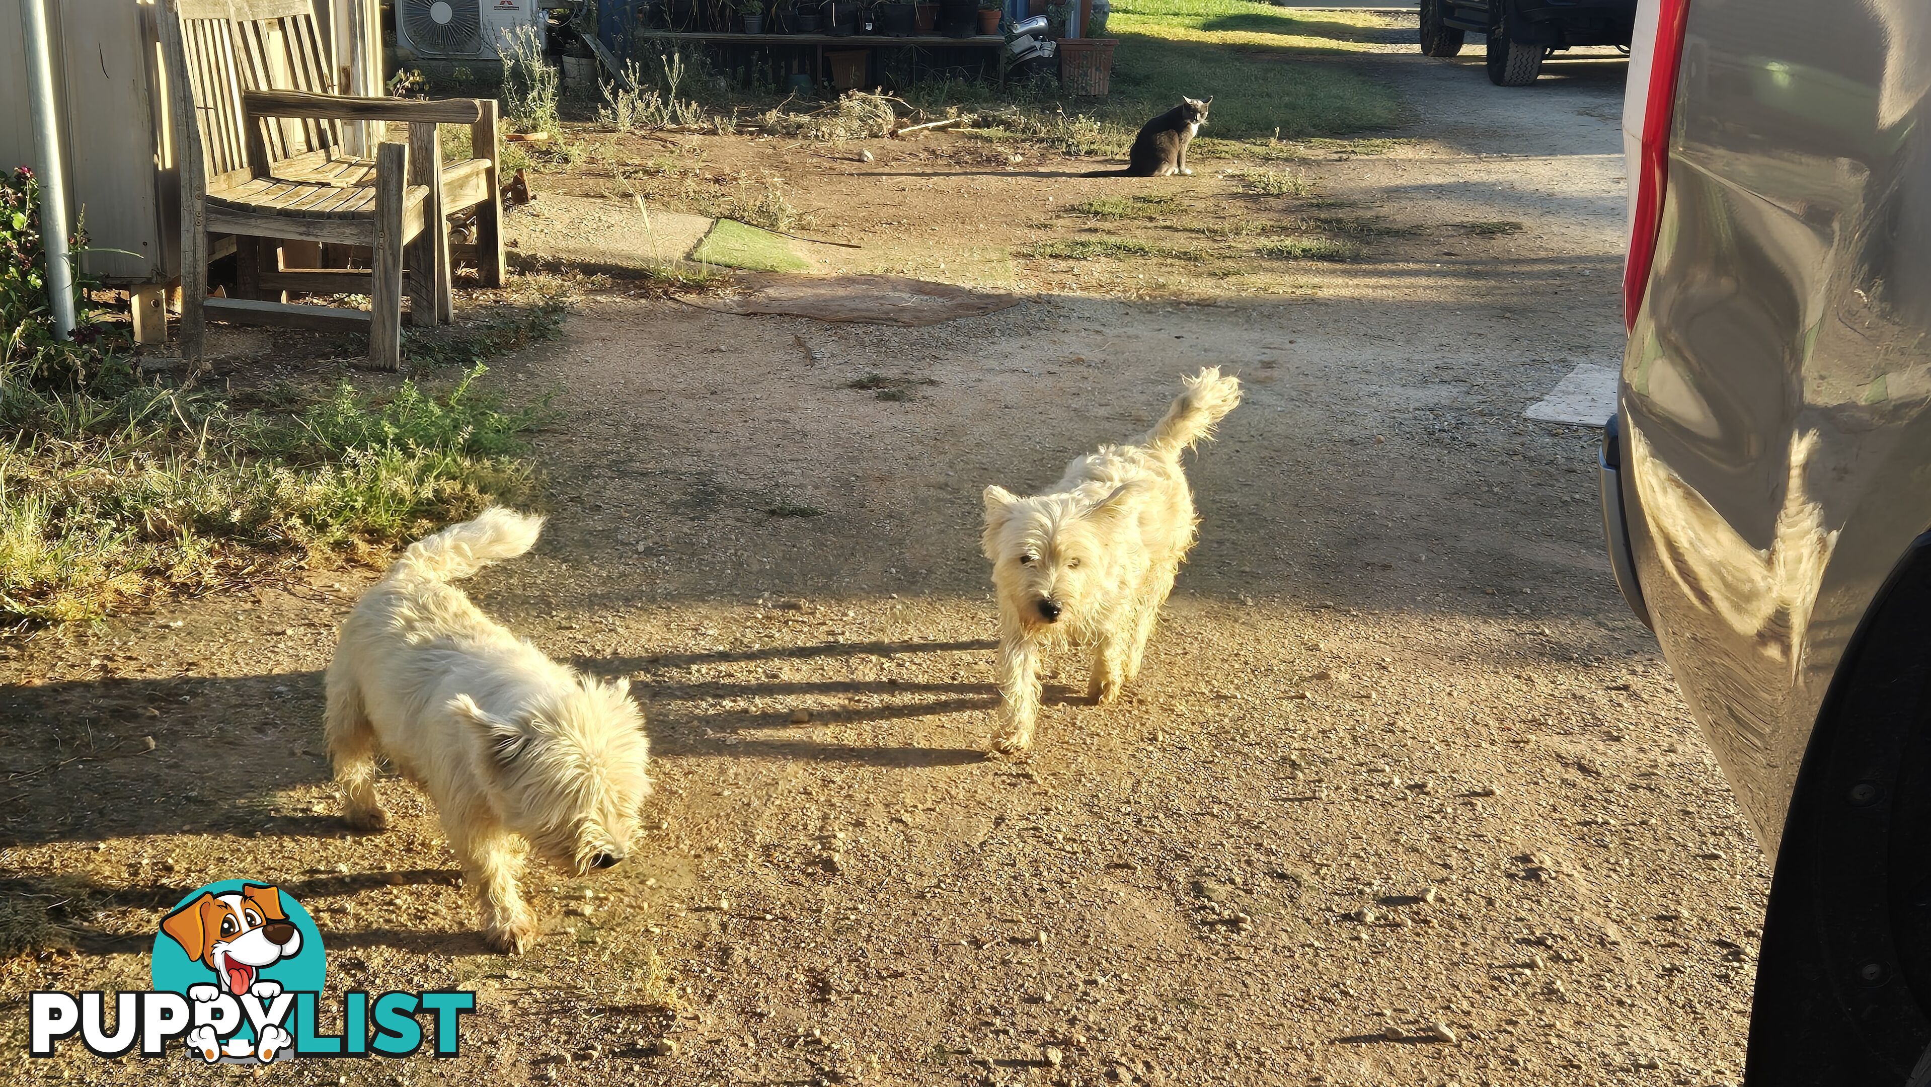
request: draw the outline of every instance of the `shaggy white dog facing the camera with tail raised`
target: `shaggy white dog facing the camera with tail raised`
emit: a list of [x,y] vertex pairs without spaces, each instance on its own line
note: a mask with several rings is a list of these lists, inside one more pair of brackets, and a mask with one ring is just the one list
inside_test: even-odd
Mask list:
[[985,488],[985,556],[998,593],[998,693],[1008,755],[1033,745],[1039,666],[1062,643],[1091,651],[1087,695],[1110,703],[1139,658],[1193,546],[1193,492],[1180,454],[1240,404],[1240,380],[1207,367],[1133,446],[1101,446],[1047,492]]

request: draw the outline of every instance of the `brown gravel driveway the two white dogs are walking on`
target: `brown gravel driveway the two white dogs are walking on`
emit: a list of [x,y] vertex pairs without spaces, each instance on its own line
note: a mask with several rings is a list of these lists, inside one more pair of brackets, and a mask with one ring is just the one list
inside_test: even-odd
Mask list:
[[[247,875],[334,983],[479,994],[462,1058],[303,1083],[1734,1083],[1767,869],[1614,593],[1597,434],[1522,419],[1620,357],[1620,64],[1369,64],[1415,127],[1311,170],[1437,228],[1307,297],[881,328],[599,295],[498,367],[566,421],[545,543],[473,595],[631,676],[658,778],[626,865],[533,880],[523,960],[407,786],[388,834],[334,817],[321,668],[373,573],[15,647],[8,770],[126,743],[0,797],[0,890],[97,907],[0,967],[8,1045],[23,990],[145,989],[158,911]],[[1037,755],[987,761],[979,490],[1201,363],[1247,402],[1145,674],[1095,709],[1068,660]]]

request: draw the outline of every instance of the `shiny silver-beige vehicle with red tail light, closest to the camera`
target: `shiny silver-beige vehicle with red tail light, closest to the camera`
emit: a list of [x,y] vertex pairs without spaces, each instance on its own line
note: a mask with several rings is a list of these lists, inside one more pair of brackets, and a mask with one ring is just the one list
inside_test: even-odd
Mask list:
[[1624,595],[1775,857],[1749,1087],[1931,1083],[1931,4],[1641,0]]

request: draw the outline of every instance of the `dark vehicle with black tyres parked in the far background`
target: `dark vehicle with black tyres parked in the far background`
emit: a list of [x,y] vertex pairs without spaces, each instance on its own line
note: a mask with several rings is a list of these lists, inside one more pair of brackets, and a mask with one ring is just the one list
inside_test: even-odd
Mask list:
[[1489,39],[1489,81],[1535,83],[1558,48],[1630,44],[1636,0],[1421,0],[1421,52],[1456,56],[1469,33]]

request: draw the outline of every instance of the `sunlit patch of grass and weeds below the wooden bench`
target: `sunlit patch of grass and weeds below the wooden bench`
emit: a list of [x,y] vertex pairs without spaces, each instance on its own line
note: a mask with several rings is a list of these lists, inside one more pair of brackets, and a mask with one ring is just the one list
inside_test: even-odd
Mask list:
[[292,413],[168,386],[6,388],[0,614],[95,620],[527,498],[521,434],[548,409],[510,405],[481,376],[390,394],[342,384]]

